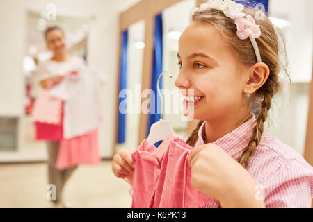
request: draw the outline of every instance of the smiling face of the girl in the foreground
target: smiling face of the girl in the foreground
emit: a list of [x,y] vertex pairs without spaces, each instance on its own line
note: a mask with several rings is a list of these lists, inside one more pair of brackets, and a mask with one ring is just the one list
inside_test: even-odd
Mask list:
[[245,76],[238,74],[234,53],[214,26],[192,22],[179,39],[177,57],[180,71],[175,85],[185,89],[185,96],[192,94],[188,89],[193,89],[195,96],[194,102],[184,101],[189,110],[186,116],[209,121],[243,112],[248,100],[243,94]]

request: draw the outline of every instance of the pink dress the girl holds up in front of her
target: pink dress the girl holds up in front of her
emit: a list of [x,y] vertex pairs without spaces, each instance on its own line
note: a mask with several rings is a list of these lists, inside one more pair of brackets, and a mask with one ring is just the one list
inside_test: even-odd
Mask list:
[[155,148],[145,139],[132,154],[134,172],[131,207],[191,208],[203,207],[207,199],[190,182],[188,155],[192,147],[172,132]]

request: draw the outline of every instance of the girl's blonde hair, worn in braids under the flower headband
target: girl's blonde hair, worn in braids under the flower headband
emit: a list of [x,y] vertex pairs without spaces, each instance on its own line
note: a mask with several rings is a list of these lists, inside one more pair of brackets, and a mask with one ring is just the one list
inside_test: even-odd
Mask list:
[[[243,12],[246,13],[246,15],[251,15],[255,19],[255,15],[258,11],[253,8],[245,7]],[[242,65],[252,66],[257,63],[255,51],[250,40],[240,40],[236,35],[237,29],[234,20],[226,17],[220,10],[211,9],[193,12],[191,15],[191,21],[207,22],[217,28],[223,35],[224,40],[230,46],[230,49],[236,53],[236,56]],[[252,129],[252,136],[249,139],[248,146],[243,151],[241,157],[239,157],[239,160],[237,160],[245,168],[248,167],[249,158],[261,140],[264,132],[264,122],[268,116],[268,110],[271,108],[272,98],[280,89],[278,74],[283,70],[289,78],[285,65],[280,61],[278,35],[275,33],[273,24],[265,14],[264,19],[255,19],[255,22],[260,25],[262,32],[261,36],[255,40],[259,46],[262,62],[268,65],[270,74],[264,85],[252,95],[252,103],[259,105],[256,124]],[[284,43],[283,37],[282,42]],[[285,56],[285,50],[283,56]],[[195,130],[193,130],[193,133],[191,133],[191,136],[187,139],[187,144],[195,146],[195,142],[198,140],[198,130],[202,123],[203,121],[200,121]]]

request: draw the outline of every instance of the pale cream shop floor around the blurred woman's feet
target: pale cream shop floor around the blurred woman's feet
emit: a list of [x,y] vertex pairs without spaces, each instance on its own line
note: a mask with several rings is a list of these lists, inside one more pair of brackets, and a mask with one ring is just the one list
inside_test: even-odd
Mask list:
[[[0,164],[0,207],[51,207],[46,199],[47,165]],[[115,178],[111,161],[79,166],[65,187],[73,207],[130,207],[130,185]]]

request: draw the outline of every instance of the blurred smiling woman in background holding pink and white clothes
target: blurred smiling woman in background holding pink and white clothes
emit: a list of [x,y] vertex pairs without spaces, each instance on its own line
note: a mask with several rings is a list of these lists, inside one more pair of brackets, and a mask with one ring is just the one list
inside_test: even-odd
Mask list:
[[[73,76],[72,74],[77,76],[77,71],[81,70],[81,67],[86,66],[84,66],[82,58],[71,56],[67,53],[65,35],[58,26],[47,28],[45,31],[45,40],[47,42],[47,48],[51,50],[53,56],[50,60],[41,62],[38,66],[38,78],[40,79],[40,85],[43,90],[40,95],[38,94],[36,100],[37,109],[36,103],[34,108],[36,139],[47,141],[49,184],[55,185],[56,188],[56,195],[53,198],[54,206],[70,207],[63,200],[63,188],[74,170],[77,169],[77,165],[97,164],[100,162],[97,126],[93,124],[92,128],[79,130],[79,134],[72,133],[70,138],[64,137],[65,121],[72,116],[79,118],[79,114],[68,114],[67,110],[76,112],[75,110],[77,108],[73,107],[73,104],[75,105],[75,99],[76,101],[81,100],[81,95],[77,95],[79,98],[71,96],[74,102],[71,101],[72,107],[67,107],[66,105],[70,103],[69,101],[55,98],[51,96],[50,92],[62,85],[61,83],[66,83],[68,77]],[[83,80],[83,78],[81,79]],[[72,85],[75,85],[75,83]],[[90,97],[93,97],[93,94]],[[94,100],[96,101],[96,99]],[[93,101],[93,99],[86,98],[86,101]],[[88,113],[90,117],[99,114],[97,107],[94,110],[94,112]],[[81,109],[77,110],[77,112],[83,114]],[[75,119],[70,120],[77,123],[79,119],[77,121]],[[77,124],[74,128],[79,126]],[[66,126],[69,128],[69,124],[66,124]]]

